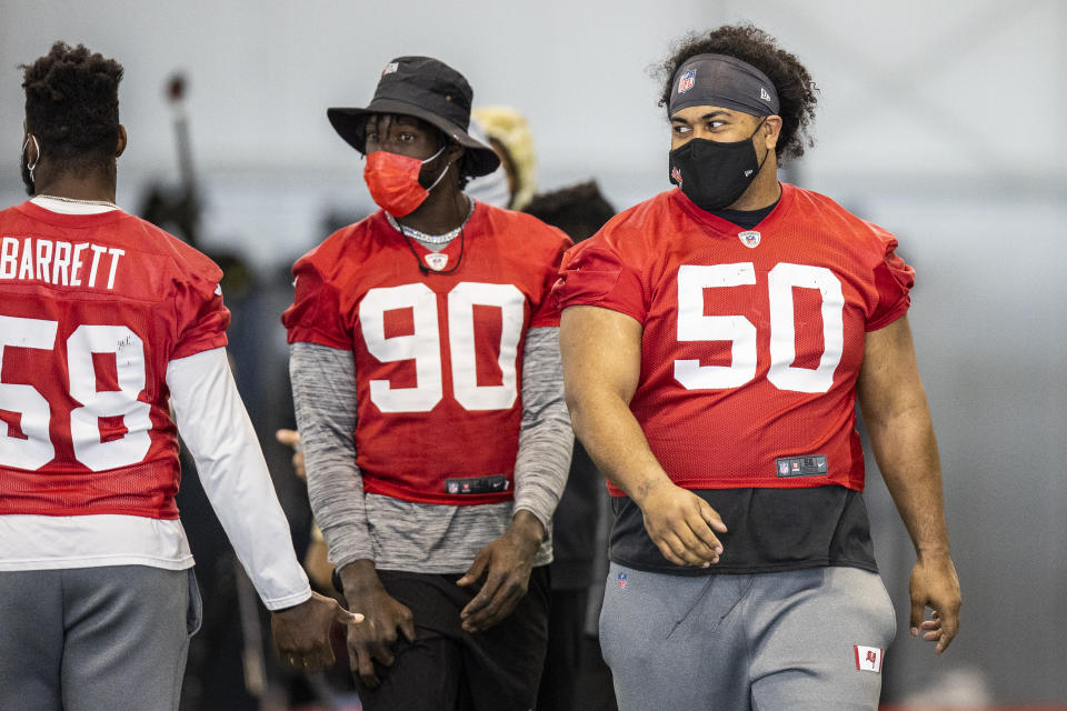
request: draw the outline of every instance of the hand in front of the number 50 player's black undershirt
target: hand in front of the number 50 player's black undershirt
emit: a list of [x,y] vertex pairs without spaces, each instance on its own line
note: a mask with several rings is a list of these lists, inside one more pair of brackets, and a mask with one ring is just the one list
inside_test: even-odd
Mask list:
[[726,524],[707,501],[667,480],[635,501],[645,514],[645,530],[664,558],[676,565],[701,568],[719,562],[722,544],[715,532],[726,533]]

